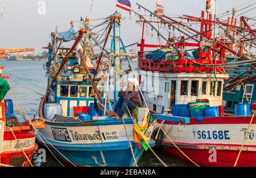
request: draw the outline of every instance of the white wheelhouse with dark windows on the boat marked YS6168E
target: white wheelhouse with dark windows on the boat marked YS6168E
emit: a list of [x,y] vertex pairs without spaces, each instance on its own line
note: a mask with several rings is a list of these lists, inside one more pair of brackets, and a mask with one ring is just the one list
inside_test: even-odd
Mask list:
[[172,105],[208,99],[210,106],[222,105],[224,80],[228,74],[155,73],[139,69],[140,84],[147,105],[156,112]]

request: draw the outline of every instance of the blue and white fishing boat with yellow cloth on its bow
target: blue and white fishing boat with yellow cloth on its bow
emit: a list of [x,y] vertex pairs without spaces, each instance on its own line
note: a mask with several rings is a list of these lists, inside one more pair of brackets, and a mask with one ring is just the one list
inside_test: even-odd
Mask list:
[[[110,52],[105,50],[108,37],[101,47],[88,26],[88,18],[82,19],[84,28],[79,31],[72,27],[65,32],[52,33],[51,43],[44,47],[49,53],[45,66],[48,86],[39,106],[39,117],[45,119],[45,128],[38,130],[37,140],[49,148],[61,163],[96,167],[134,166],[144,151],[141,144],[147,142],[147,146],[154,146],[154,140],[150,139],[154,125],[148,119],[147,109],[138,111],[144,113],[138,114],[138,123],[130,114],[121,119],[108,116],[117,102],[115,88],[119,85],[118,77],[112,81],[114,103],[110,103],[109,87],[100,87],[103,76],[98,69],[103,56],[108,59],[105,60],[105,64],[108,63],[106,71],[113,68],[113,76],[120,76],[122,70],[120,56],[126,56],[126,52],[121,52],[120,19],[119,13],[105,19],[105,23],[110,24],[106,36],[110,36],[113,28]],[[96,59],[97,67],[92,63],[93,48],[88,39],[102,51]],[[70,40],[75,40],[71,48],[60,47]],[[110,70],[108,73],[105,78],[108,78],[109,86]],[[136,133],[143,136],[141,143],[134,139]]]

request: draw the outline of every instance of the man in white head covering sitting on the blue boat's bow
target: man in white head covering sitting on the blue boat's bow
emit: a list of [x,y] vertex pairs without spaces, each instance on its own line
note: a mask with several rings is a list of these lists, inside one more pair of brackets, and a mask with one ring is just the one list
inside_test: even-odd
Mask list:
[[142,106],[141,97],[137,89],[138,80],[136,78],[128,78],[128,86],[124,82],[122,89],[118,92],[118,101],[114,108],[114,119],[119,119],[125,114],[126,106],[133,111],[137,106]]

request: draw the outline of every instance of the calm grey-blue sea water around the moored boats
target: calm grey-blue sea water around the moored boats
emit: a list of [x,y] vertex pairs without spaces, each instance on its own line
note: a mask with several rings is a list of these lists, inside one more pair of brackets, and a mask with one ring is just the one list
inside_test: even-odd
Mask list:
[[[47,78],[46,72],[43,69],[45,61],[0,61],[0,65],[5,66],[3,73],[10,76],[9,84],[13,88],[16,102],[19,102],[26,111],[28,117],[31,119],[38,111],[40,97],[46,91]],[[14,94],[7,94],[6,98],[13,99]],[[14,101],[14,100],[13,100]],[[14,102],[14,109],[16,105]],[[15,110],[15,114],[19,115]],[[22,118],[19,115],[19,118]],[[22,120],[22,119],[20,119]],[[191,166],[183,160],[164,154],[161,150],[155,150],[156,154],[168,166]],[[35,153],[33,164],[35,166],[61,166],[60,163],[47,151],[46,162],[38,161],[38,154]],[[144,152],[139,166],[162,166],[158,159],[152,154],[150,150]]]

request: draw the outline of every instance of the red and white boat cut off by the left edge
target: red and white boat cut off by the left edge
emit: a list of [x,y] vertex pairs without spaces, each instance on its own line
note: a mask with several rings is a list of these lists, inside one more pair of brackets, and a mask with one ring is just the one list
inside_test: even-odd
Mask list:
[[0,166],[28,167],[38,150],[35,128],[42,128],[43,121],[18,121],[13,101],[4,100],[10,86],[6,81],[9,76],[2,75],[3,68],[0,67]]

